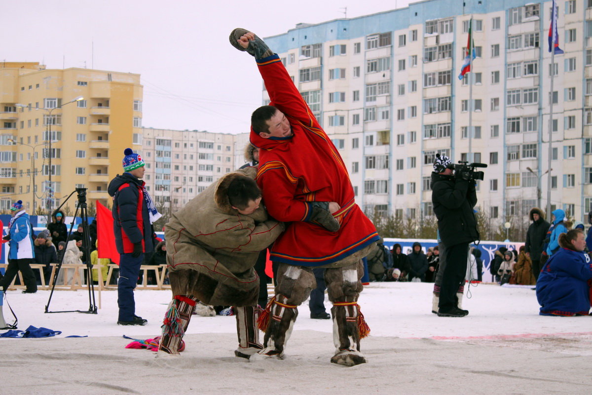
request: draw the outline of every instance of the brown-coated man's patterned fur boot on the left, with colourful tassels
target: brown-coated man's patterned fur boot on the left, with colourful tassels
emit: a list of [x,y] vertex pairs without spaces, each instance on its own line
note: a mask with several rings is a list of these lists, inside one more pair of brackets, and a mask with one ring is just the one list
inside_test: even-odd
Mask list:
[[179,354],[182,348],[182,339],[196,303],[196,298],[183,295],[177,295],[170,301],[162,325],[158,354]]

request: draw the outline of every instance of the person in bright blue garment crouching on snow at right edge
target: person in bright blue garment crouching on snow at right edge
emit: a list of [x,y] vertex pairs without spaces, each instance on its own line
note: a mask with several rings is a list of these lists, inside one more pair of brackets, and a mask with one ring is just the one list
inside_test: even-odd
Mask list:
[[559,235],[559,249],[545,263],[536,282],[542,316],[585,316],[590,311],[592,264],[584,253],[580,229]]

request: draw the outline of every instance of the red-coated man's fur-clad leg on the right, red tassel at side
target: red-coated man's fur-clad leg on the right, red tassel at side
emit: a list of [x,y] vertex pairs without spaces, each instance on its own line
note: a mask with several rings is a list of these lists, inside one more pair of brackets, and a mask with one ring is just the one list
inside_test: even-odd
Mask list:
[[[335,355],[331,358],[334,364],[353,366],[366,362],[360,352],[360,326],[365,325],[357,304],[362,291],[362,262],[343,268],[326,269],[325,282],[327,294],[333,303],[333,343]],[[367,327],[366,327],[367,328]]]

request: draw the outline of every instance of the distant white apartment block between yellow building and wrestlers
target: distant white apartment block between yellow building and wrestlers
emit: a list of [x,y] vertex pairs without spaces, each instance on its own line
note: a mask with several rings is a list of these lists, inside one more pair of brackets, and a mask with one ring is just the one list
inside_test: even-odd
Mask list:
[[244,165],[248,134],[141,129],[146,188],[160,210],[175,212],[212,182]]

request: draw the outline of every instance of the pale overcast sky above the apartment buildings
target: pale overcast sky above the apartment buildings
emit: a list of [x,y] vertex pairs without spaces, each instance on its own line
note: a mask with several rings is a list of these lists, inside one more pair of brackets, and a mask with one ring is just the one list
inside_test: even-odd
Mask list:
[[[242,133],[261,102],[253,58],[235,27],[260,37],[406,7],[410,0],[30,0],[2,4],[0,62],[139,73],[143,126]],[[93,50],[94,48],[94,50]]]

